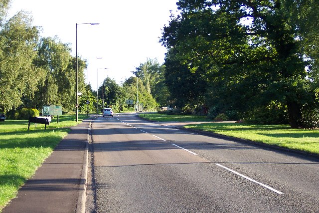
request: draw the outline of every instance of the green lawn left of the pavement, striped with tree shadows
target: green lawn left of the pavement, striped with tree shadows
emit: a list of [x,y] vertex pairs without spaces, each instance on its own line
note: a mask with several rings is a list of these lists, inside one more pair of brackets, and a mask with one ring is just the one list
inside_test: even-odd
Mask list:
[[[80,122],[85,118],[79,115]],[[26,120],[0,122],[0,211],[76,124],[75,115],[52,119],[46,130],[31,123],[27,131]]]

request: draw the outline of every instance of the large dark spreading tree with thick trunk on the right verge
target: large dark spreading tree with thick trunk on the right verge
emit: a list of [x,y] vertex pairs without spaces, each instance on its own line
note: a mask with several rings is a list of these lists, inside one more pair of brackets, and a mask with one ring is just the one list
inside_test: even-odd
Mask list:
[[[317,73],[318,60],[310,52],[318,50],[318,43],[311,45],[311,51],[302,46],[307,44],[306,34],[316,36],[319,30],[301,11],[318,8],[318,1],[179,0],[177,4],[181,14],[172,16],[161,41],[190,71],[205,70],[214,102],[241,112],[280,102],[287,106],[291,127],[303,125],[304,109],[318,106],[318,83],[310,78]],[[317,28],[307,29],[305,21]]]

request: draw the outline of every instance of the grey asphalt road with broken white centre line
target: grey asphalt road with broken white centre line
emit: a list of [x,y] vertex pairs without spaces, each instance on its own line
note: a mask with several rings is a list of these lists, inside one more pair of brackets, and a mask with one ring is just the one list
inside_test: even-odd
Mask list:
[[135,114],[92,124],[87,213],[319,213],[319,161]]

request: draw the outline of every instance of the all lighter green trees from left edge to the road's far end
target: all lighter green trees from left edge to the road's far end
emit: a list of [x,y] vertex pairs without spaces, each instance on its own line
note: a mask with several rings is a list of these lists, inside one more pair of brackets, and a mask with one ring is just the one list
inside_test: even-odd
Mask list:
[[[76,57],[71,55],[69,44],[58,37],[40,37],[41,28],[32,25],[32,17],[23,11],[6,20],[9,0],[0,0],[0,112],[14,115],[22,108],[41,111],[45,105],[61,105],[63,111],[75,112]],[[114,79],[106,78],[97,91],[85,84],[86,62],[78,58],[79,110],[96,112],[102,110],[102,98],[107,106],[115,110],[127,110],[126,100],[133,99],[145,109],[155,109],[162,95],[153,98],[155,86],[163,84],[163,68],[156,60],[148,59],[137,68],[137,76],[118,85]],[[152,72],[152,77],[140,75]],[[135,72],[134,72],[135,73]],[[87,86],[89,90],[87,90]],[[137,90],[138,89],[138,90]],[[103,95],[102,95],[103,91]],[[154,94],[154,92],[153,92]],[[90,104],[87,105],[87,99]],[[134,110],[134,107],[133,107]],[[12,112],[12,113],[10,113]]]

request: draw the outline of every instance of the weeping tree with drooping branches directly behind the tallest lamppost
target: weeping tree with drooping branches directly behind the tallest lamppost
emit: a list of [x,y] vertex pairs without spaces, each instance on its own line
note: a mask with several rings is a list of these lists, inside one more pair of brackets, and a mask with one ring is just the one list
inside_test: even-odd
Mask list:
[[[76,58],[71,55],[68,44],[57,37],[42,38],[38,45],[35,64],[44,76],[34,99],[38,108],[44,105],[62,105],[65,110],[73,110],[76,89]],[[85,61],[78,58],[78,91],[85,90]]]

